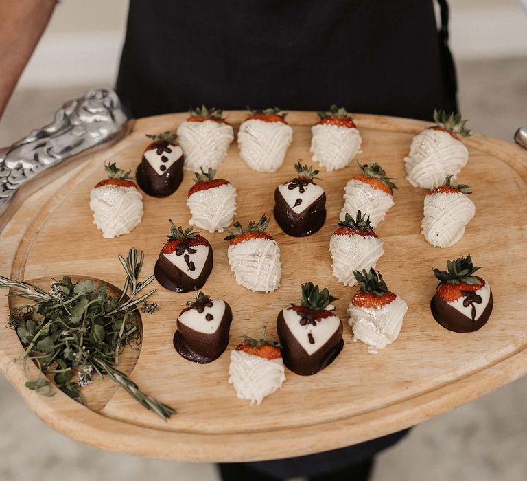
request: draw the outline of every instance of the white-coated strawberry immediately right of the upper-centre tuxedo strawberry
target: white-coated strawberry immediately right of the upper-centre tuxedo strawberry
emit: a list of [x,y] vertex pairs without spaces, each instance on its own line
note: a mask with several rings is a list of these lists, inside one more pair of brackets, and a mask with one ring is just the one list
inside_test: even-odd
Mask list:
[[355,216],[359,210],[370,218],[371,227],[384,219],[386,212],[393,207],[393,177],[379,164],[359,164],[361,175],[355,175],[344,187],[344,207],[340,211],[340,220],[346,219],[346,213]]

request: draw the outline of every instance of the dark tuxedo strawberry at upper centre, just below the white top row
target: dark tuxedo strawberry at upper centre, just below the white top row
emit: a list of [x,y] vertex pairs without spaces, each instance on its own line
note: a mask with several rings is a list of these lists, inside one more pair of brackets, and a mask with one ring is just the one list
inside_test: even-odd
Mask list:
[[318,170],[295,164],[296,177],[274,190],[274,219],[285,234],[310,236],[326,220],[326,194],[314,182]]

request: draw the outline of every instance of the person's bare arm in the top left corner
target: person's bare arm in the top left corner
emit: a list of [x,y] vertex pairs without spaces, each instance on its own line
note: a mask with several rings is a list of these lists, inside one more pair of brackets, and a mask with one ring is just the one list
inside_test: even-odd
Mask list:
[[53,13],[56,0],[3,0],[0,7],[0,117]]

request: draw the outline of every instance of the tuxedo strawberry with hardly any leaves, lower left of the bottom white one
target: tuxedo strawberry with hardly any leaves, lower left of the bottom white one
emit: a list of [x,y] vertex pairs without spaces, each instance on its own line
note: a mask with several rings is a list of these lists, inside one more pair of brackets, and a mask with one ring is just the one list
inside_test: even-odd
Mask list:
[[200,364],[218,359],[229,344],[233,320],[231,306],[224,300],[211,300],[202,292],[178,316],[174,347],[178,353]]

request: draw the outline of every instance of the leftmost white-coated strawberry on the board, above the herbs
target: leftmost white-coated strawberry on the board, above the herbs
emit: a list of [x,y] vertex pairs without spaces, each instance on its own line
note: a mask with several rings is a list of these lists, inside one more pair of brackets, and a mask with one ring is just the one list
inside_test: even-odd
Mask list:
[[143,196],[130,170],[117,168],[115,162],[104,166],[108,179],[97,183],[90,193],[93,223],[106,239],[128,234],[143,217]]

